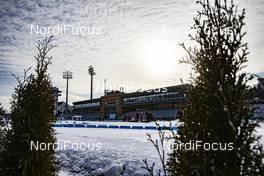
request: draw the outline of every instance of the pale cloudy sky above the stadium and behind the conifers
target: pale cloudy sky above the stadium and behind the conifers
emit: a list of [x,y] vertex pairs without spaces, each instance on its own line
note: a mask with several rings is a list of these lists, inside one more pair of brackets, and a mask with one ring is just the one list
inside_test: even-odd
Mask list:
[[[88,99],[93,65],[94,97],[108,88],[138,89],[176,85],[190,68],[179,65],[188,44],[196,0],[42,0],[0,1],[0,102],[6,109],[16,86],[10,73],[21,75],[35,66],[36,42],[55,35],[49,69],[53,85],[63,91],[62,72],[70,70],[70,102]],[[246,41],[250,55],[246,71],[263,74],[264,0],[239,0],[246,8]],[[48,33],[47,30],[50,30]],[[66,29],[58,32],[57,29]],[[46,30],[46,32],[45,32]],[[53,30],[53,31],[52,31]]]

